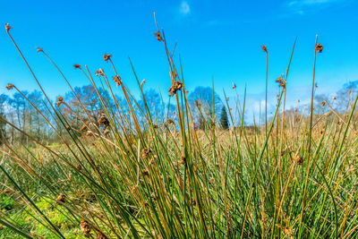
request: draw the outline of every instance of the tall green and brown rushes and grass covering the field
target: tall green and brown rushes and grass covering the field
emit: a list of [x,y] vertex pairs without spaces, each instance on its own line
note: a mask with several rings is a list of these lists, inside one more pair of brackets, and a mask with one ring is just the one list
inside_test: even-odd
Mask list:
[[[6,30],[32,73],[11,27]],[[63,109],[69,106],[64,99],[52,104],[32,73],[52,114],[52,118],[42,116],[58,142],[47,146],[0,118],[31,141],[29,145],[10,145],[0,140],[0,236],[358,236],[357,98],[343,115],[317,115],[313,107],[309,115],[300,111],[288,114],[286,82],[293,47],[286,75],[277,80],[280,93],[273,118],[267,118],[265,108],[265,124],[248,127],[243,120],[236,124],[236,117],[245,117],[245,97],[243,104],[237,98],[236,107],[228,110],[232,127],[224,131],[217,124],[214,106],[204,112],[199,105],[189,104],[181,63],[177,68],[164,31],[158,28],[156,37],[166,51],[172,81],[169,92],[176,105],[177,120],[166,117],[165,124],[158,125],[157,115],[150,114],[143,82],[132,65],[144,98],[144,108],[137,106],[125,87],[126,80],[116,71],[112,55],[105,55],[105,61],[113,68],[117,89],[112,89],[107,73],[98,71],[95,78],[88,66],[75,65],[97,90],[103,112],[94,122],[90,115],[98,113],[85,110],[72,90],[85,117],[72,113],[84,125],[89,134],[86,137],[67,121]],[[43,49],[38,52],[71,87],[50,56]],[[109,92],[105,96],[98,92],[102,86]],[[21,92],[13,85],[8,89]],[[122,91],[125,105],[116,100],[115,90]],[[313,98],[312,91],[312,102]],[[195,110],[202,115],[204,131],[195,127]],[[59,127],[64,129],[62,133]]]

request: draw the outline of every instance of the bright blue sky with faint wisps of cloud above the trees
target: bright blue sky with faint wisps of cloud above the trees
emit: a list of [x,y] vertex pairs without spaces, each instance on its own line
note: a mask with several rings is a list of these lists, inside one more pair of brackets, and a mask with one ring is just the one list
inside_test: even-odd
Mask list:
[[[1,0],[1,24],[13,26],[12,35],[50,96],[69,90],[36,47],[44,47],[72,85],[88,84],[72,64],[87,64],[110,72],[102,55],[112,54],[123,80],[138,93],[128,56],[146,88],[170,87],[164,48],[153,12],[164,28],[170,47],[177,41],[187,88],[210,86],[234,95],[247,85],[251,107],[264,98],[265,54],[268,47],[269,98],[276,98],[275,80],[285,73],[297,38],[287,83],[289,102],[310,95],[316,34],[323,45],[317,59],[317,93],[334,93],[347,81],[358,80],[358,1],[16,1]],[[6,32],[0,31],[0,94],[8,82],[21,90],[38,89]],[[111,74],[111,73],[110,73]],[[294,103],[292,103],[294,104]]]

